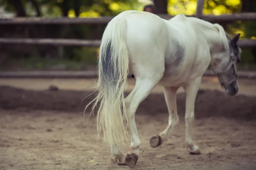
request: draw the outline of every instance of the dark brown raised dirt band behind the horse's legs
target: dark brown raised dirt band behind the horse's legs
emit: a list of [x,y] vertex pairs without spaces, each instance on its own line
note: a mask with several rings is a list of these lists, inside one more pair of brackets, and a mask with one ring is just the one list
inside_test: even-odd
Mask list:
[[[25,90],[10,86],[0,86],[0,108],[31,110],[49,110],[82,113],[84,107],[92,101],[91,92],[73,90]],[[127,95],[128,93],[126,93]],[[87,97],[86,97],[87,96]],[[87,111],[90,111],[88,107]],[[185,114],[185,94],[177,94],[177,111]],[[150,94],[137,109],[137,114],[158,115],[167,113],[163,94]],[[256,96],[227,96],[218,90],[199,90],[195,101],[195,118],[226,117],[230,119],[256,119]]]

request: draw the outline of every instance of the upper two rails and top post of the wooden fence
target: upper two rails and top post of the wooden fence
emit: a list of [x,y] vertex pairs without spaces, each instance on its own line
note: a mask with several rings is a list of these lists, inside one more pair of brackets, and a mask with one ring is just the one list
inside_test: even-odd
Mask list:
[[[245,21],[254,20],[256,22],[256,13],[239,13],[239,14],[224,14],[220,16],[203,15],[204,0],[197,0],[198,6],[195,15],[188,17],[197,17],[209,22],[231,22],[235,20]],[[171,19],[171,15],[159,15],[163,19]],[[0,18],[0,26],[17,25],[17,24],[85,24],[85,25],[99,25],[107,24],[113,19],[112,17],[99,17],[99,18],[43,18],[43,17],[15,17],[15,18]],[[55,46],[90,46],[96,47],[100,45],[100,40],[77,40],[77,39],[29,39],[29,38],[0,38],[1,44],[27,44],[27,45],[55,45]],[[239,46],[241,48],[256,48],[256,40],[247,39],[240,40]],[[206,73],[205,75],[211,75]],[[244,73],[242,77],[255,77],[255,73]]]

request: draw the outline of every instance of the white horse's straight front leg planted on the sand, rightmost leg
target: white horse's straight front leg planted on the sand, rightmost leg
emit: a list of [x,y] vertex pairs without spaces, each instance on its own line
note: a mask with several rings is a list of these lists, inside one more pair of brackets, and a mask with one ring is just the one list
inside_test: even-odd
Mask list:
[[200,154],[199,147],[193,142],[192,139],[192,124],[194,121],[195,111],[195,98],[201,84],[201,77],[191,82],[188,82],[184,88],[186,92],[186,146],[190,154]]

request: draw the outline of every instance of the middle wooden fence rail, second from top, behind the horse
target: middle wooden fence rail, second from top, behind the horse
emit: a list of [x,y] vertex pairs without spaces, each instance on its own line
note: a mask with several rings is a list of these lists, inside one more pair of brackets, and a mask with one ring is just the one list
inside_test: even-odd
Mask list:
[[[30,39],[30,38],[0,38],[0,44],[27,44],[27,45],[61,45],[61,46],[89,46],[97,47],[101,40],[79,39]],[[256,40],[239,40],[241,48],[256,47]]]

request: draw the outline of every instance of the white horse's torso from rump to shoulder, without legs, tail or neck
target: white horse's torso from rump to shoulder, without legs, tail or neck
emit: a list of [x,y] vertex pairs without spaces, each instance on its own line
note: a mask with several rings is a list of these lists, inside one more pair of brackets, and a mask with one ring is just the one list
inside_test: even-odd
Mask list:
[[[183,14],[164,20],[144,11],[125,11],[114,19],[126,20],[126,44],[132,74],[163,71],[162,85],[182,85],[190,77],[198,48],[191,21]],[[114,24],[113,24],[114,27]]]

